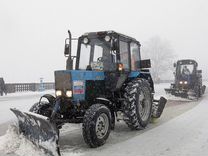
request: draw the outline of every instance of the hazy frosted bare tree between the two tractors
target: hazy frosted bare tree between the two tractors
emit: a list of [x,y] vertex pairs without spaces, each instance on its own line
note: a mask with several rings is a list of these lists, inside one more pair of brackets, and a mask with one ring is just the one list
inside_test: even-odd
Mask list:
[[173,62],[176,55],[167,40],[155,36],[142,46],[142,58],[151,59],[151,73],[155,82],[159,82],[161,75],[168,70],[173,70]]

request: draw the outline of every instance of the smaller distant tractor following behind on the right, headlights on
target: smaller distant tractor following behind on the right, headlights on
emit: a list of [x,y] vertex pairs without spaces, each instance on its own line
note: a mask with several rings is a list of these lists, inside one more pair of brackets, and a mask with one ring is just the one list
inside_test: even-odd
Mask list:
[[201,97],[206,86],[202,85],[202,70],[197,69],[198,63],[190,59],[179,60],[174,63],[174,67],[175,83],[165,89],[166,93],[189,99]]

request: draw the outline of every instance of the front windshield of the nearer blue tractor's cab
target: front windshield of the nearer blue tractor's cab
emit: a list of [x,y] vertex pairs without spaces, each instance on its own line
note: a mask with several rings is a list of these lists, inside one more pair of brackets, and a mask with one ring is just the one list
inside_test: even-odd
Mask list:
[[104,70],[110,62],[110,42],[104,39],[89,39],[89,43],[81,43],[79,69]]

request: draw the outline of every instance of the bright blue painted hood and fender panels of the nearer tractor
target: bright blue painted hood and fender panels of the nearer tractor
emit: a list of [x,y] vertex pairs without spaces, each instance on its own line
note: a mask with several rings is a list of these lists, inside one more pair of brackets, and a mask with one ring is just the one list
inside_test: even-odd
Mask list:
[[[63,72],[63,73],[68,73],[71,74],[71,78],[72,78],[72,88],[73,88],[73,92],[74,92],[74,88],[77,88],[77,86],[74,86],[75,82],[82,82],[83,85],[83,89],[84,92],[83,94],[73,94],[73,100],[74,101],[81,101],[81,100],[85,100],[85,88],[86,88],[86,81],[87,80],[104,80],[105,75],[103,71],[86,71],[86,70],[60,70],[60,71],[56,71],[56,72]],[[138,71],[132,71],[129,74],[129,78],[134,78],[134,77],[138,77],[140,74],[140,72]],[[80,87],[80,88],[82,88]],[[79,88],[79,86],[78,86]]]

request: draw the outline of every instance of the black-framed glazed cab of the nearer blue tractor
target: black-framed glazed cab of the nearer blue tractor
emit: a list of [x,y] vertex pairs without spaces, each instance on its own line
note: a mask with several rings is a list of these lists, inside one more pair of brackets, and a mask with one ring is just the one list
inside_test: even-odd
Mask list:
[[[71,34],[69,41],[70,38]],[[84,72],[91,77],[99,75],[109,91],[119,90],[129,77],[139,75],[140,69],[151,67],[150,60],[141,60],[140,43],[136,39],[114,31],[85,33],[79,37],[76,57],[71,56],[70,45],[65,45],[67,70]],[[153,83],[151,86],[153,88]]]

